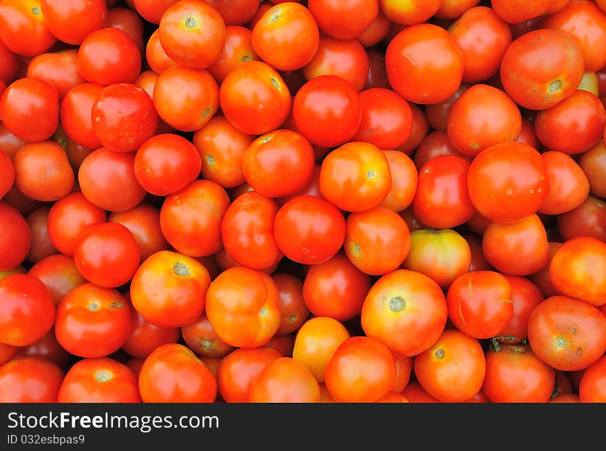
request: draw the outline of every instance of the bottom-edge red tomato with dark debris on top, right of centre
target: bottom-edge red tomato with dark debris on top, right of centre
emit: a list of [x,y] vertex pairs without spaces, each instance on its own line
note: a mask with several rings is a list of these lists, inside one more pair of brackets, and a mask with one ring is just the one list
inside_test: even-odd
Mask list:
[[493,403],[544,403],[549,401],[556,376],[529,346],[505,344],[486,353],[482,390]]

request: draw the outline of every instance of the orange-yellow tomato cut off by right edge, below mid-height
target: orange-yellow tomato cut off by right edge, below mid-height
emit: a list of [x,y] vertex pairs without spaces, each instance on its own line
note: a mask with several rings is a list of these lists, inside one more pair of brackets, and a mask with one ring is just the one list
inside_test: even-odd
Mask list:
[[596,238],[567,240],[550,263],[550,279],[560,294],[593,306],[606,304],[606,244]]

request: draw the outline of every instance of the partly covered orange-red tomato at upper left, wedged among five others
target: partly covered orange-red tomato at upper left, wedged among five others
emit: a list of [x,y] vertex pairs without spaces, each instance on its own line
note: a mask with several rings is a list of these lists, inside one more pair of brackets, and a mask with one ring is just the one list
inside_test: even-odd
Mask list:
[[72,87],[85,83],[76,67],[78,50],[43,53],[32,58],[28,65],[28,77],[39,78],[53,85],[63,101],[65,94]]

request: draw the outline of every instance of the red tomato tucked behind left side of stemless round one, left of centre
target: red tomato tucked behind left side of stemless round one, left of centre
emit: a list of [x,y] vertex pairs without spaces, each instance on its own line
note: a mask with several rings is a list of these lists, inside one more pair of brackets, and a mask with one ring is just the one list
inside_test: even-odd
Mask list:
[[85,198],[107,211],[126,211],[145,198],[134,169],[135,155],[112,152],[105,147],[89,154],[78,171],[78,182]]

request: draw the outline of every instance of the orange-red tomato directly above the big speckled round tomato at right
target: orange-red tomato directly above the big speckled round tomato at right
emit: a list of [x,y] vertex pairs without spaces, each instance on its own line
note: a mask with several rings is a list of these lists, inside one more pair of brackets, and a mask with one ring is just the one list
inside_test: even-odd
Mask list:
[[521,132],[517,105],[488,85],[473,85],[463,92],[448,115],[448,139],[463,155],[476,156],[492,145],[514,141]]

